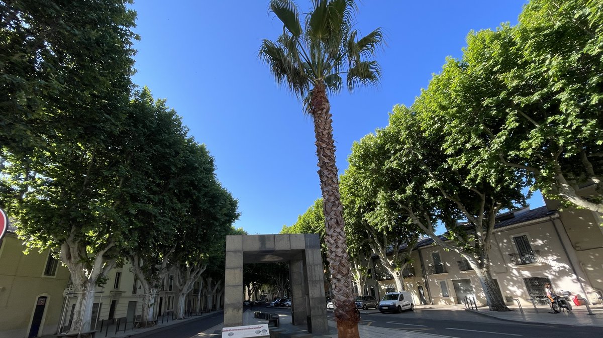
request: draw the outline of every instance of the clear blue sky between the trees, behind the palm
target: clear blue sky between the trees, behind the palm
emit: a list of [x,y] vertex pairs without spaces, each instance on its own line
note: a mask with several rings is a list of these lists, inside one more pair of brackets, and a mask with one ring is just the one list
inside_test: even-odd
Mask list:
[[[387,125],[396,104],[410,105],[440,72],[460,57],[470,30],[515,24],[525,0],[386,1],[359,3],[356,28],[385,31],[377,56],[376,88],[331,96],[339,172],[352,143]],[[298,1],[300,10],[309,1]],[[166,98],[197,142],[215,157],[216,174],[239,200],[236,227],[250,234],[279,233],[320,197],[312,120],[278,87],[257,57],[261,39],[276,39],[282,25],[268,1],[138,0],[134,83]],[[543,205],[540,194],[531,206]]]

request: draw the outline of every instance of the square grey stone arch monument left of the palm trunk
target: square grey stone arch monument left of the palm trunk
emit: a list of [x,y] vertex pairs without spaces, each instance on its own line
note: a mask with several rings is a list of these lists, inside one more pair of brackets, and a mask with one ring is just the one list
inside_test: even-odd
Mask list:
[[318,234],[227,236],[224,327],[243,325],[243,264],[282,261],[289,262],[292,324],[306,324],[314,334],[329,332]]

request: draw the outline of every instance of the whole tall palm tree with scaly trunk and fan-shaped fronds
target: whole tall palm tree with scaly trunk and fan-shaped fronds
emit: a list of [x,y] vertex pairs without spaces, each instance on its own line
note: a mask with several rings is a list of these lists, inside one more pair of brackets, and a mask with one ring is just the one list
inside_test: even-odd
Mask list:
[[358,337],[359,315],[353,295],[346,234],[339,199],[335,143],[327,92],[337,93],[346,76],[349,90],[362,84],[376,84],[379,64],[374,60],[382,46],[380,28],[360,37],[353,30],[356,13],[353,0],[312,0],[302,29],[295,2],[271,0],[272,11],[283,23],[283,34],[276,41],[263,40],[259,55],[270,67],[277,83],[285,84],[303,100],[316,136],[318,176],[324,199],[327,260],[333,283],[338,336]]

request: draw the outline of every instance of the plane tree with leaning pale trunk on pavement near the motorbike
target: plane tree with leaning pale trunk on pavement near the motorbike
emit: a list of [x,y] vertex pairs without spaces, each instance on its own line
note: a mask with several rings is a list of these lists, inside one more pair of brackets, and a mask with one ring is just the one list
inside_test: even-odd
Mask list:
[[[367,154],[373,156],[362,157],[358,166],[380,168],[376,198],[393,201],[418,230],[466,258],[490,310],[507,311],[490,272],[491,239],[497,213],[525,205],[525,180],[501,163],[459,163],[455,154],[443,151],[442,133],[425,131],[421,121],[430,121],[432,110],[442,108],[437,98],[447,88],[446,77],[437,76],[412,108],[394,107],[390,124],[369,138]],[[446,237],[435,233],[437,224],[446,227]]]

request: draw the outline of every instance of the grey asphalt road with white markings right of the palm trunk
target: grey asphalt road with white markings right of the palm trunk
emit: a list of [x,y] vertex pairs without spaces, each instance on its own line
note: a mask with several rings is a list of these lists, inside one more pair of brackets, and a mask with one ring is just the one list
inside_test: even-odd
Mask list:
[[[328,311],[327,315],[332,318],[333,312]],[[415,310],[390,314],[367,310],[361,311],[361,318],[359,325],[418,331],[455,338],[600,338],[603,336],[601,328],[598,327],[522,324],[489,318],[469,311]]]

